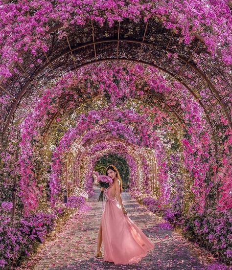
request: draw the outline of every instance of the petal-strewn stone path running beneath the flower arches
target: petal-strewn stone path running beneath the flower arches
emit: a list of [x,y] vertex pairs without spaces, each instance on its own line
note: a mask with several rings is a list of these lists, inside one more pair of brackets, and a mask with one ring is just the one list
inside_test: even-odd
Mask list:
[[155,248],[133,265],[115,265],[104,262],[103,258],[94,258],[104,207],[97,202],[99,188],[94,189],[95,194],[88,202],[91,210],[81,216],[74,214],[62,229],[55,233],[53,239],[42,244],[31,261],[17,268],[18,270],[200,270],[204,269],[203,265],[209,264],[210,260],[215,261],[213,257],[210,258],[209,252],[196,247],[177,231],[159,227],[159,224],[164,222],[162,218],[148,211],[125,192],[122,193],[122,200],[128,216],[155,244]]

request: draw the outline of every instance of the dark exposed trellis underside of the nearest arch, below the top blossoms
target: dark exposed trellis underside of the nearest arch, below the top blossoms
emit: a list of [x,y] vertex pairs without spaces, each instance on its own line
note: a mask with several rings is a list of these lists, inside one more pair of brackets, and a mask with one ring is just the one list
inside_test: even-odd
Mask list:
[[[104,23],[100,27],[89,21],[85,27],[74,25],[69,28],[68,36],[58,39],[58,31],[62,24],[50,28],[50,38],[46,40],[49,50],[40,51],[37,56],[30,52],[20,52],[23,65],[12,62],[20,73],[14,73],[7,80],[0,78],[1,93],[7,93],[12,103],[7,113],[1,115],[1,132],[4,137],[10,123],[24,118],[30,112],[29,105],[36,100],[39,87],[49,83],[70,70],[106,60],[134,61],[154,66],[166,73],[173,80],[182,83],[194,96],[206,112],[209,123],[214,127],[220,125],[219,115],[225,115],[232,128],[230,116],[231,72],[219,59],[209,57],[204,39],[195,35],[190,45],[179,44],[179,34],[167,30],[162,23],[155,20],[139,22],[124,20],[109,27]],[[168,53],[177,54],[176,58]],[[196,63],[196,56],[200,65]],[[42,63],[37,64],[36,60]],[[31,68],[30,64],[34,64]],[[178,68],[177,68],[178,67]],[[226,72],[225,72],[226,71]],[[191,74],[191,78],[186,76]],[[217,89],[217,81],[221,80],[223,90]],[[207,89],[208,97],[201,95]],[[157,100],[158,97],[157,97]],[[218,114],[215,123],[213,113]]]

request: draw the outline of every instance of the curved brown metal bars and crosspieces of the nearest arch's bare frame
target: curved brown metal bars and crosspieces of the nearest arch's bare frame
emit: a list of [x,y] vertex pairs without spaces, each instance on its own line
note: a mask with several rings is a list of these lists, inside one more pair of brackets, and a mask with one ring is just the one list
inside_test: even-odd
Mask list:
[[[72,51],[74,51],[74,50],[76,50],[76,49],[79,49],[79,48],[82,48],[82,47],[89,46],[89,45],[93,45],[93,47],[94,47],[94,54],[95,54],[95,62],[99,62],[99,61],[96,59],[96,49],[95,49],[95,45],[96,45],[96,44],[100,44],[100,43],[116,42],[116,43],[117,43],[117,57],[116,57],[117,60],[118,60],[118,47],[119,47],[119,42],[131,42],[131,43],[139,43],[139,44],[141,44],[141,47],[140,47],[140,50],[139,50],[139,55],[140,55],[140,52],[141,52],[141,48],[142,48],[142,46],[143,46],[144,44],[145,44],[145,45],[148,45],[148,46],[154,47],[153,44],[144,43],[144,38],[145,38],[145,33],[146,33],[146,29],[147,29],[148,22],[146,23],[146,27],[145,27],[145,31],[144,31],[144,35],[143,35],[143,40],[142,40],[142,42],[141,42],[141,41],[136,41],[136,40],[119,39],[120,23],[118,23],[118,38],[117,38],[117,40],[112,39],[112,40],[104,40],[104,41],[97,41],[97,42],[95,42],[95,41],[94,41],[93,21],[91,21],[91,24],[92,24],[92,35],[93,35],[93,42],[92,42],[92,43],[87,43],[87,44],[85,44],[85,45],[77,46],[77,47],[74,48],[74,49],[70,49],[69,51],[63,53],[62,55],[60,55],[60,56],[58,56],[58,57],[55,57],[52,61],[49,61],[48,58],[47,58],[47,56],[46,56],[46,59],[47,59],[47,61],[48,61],[48,64],[47,64],[47,65],[51,66],[51,63],[52,63],[53,61],[55,61],[56,59],[60,58],[61,56],[64,56],[64,55],[67,54],[67,53],[71,53],[72,58],[73,58]],[[61,28],[62,26],[63,26],[63,24],[61,23],[61,24],[59,24],[59,25],[57,25],[57,26],[51,28],[50,30],[48,30],[47,34],[52,33],[52,32],[54,32],[54,31],[58,30],[58,29]],[[171,41],[172,37],[173,37],[173,35],[171,36],[168,45],[170,44],[170,41]],[[200,40],[201,42],[204,43],[204,39],[203,39],[202,37],[200,37],[199,35],[197,35],[196,38],[197,38],[198,40]],[[68,43],[69,43],[68,38],[67,38],[67,41],[68,41]],[[167,47],[168,47],[168,45],[167,45]],[[169,50],[167,49],[167,47],[166,47],[166,49],[164,49],[164,50],[169,51]],[[69,43],[69,48],[70,48],[70,43]],[[19,55],[22,55],[22,54],[23,54],[23,51],[21,51],[21,52],[19,53]],[[45,55],[46,55],[46,54],[45,54]],[[229,113],[228,113],[227,110],[226,110],[226,105],[225,105],[225,103],[223,102],[222,97],[220,96],[220,94],[218,93],[218,91],[214,88],[214,86],[212,85],[212,83],[211,83],[211,81],[209,80],[209,78],[207,78],[207,77],[206,77],[206,76],[205,76],[205,75],[204,75],[204,74],[203,74],[196,66],[194,66],[194,65],[192,65],[192,64],[189,63],[189,60],[191,59],[191,57],[192,57],[192,55],[190,56],[190,58],[189,58],[188,60],[186,60],[186,59],[184,59],[184,58],[181,58],[182,61],[186,62],[185,66],[184,66],[183,68],[185,68],[186,65],[189,65],[191,68],[193,68],[195,71],[198,72],[198,74],[203,78],[203,80],[205,80],[205,81],[209,84],[211,90],[215,93],[215,95],[216,95],[217,98],[219,99],[219,103],[220,103],[220,105],[222,106],[223,111],[224,111],[224,113],[226,114],[226,117],[227,117],[227,119],[228,119],[229,126],[230,126],[230,128],[232,129],[232,121],[231,121],[231,118],[230,118]],[[139,56],[139,58],[140,58],[140,56]],[[107,59],[107,58],[101,59],[101,61],[102,61],[102,60],[106,61],[106,59]],[[111,59],[111,60],[114,60],[115,58],[110,58],[110,59]],[[120,60],[123,60],[122,58],[119,58],[119,59],[120,59]],[[138,60],[129,60],[129,59],[126,59],[126,60],[128,60],[128,61],[137,61],[137,62],[138,62]],[[74,62],[74,66],[75,66],[74,69],[76,69],[76,65],[75,65],[74,59],[73,59],[73,62]],[[146,61],[142,61],[142,62],[143,62],[143,63],[146,63],[146,64],[148,64],[148,65],[151,65],[151,63],[147,63]],[[9,68],[9,67],[11,68],[11,67],[14,65],[14,63],[16,63],[16,62],[15,62],[15,61],[12,61],[12,63],[8,66],[8,68]],[[85,63],[85,64],[90,64],[90,63],[92,63],[92,62],[88,62],[88,63]],[[85,64],[80,65],[80,66],[78,66],[78,67],[85,66]],[[38,74],[39,74],[39,73],[40,73],[47,65],[45,65],[42,69],[39,69],[39,70],[35,73],[34,76],[37,76],[37,75],[38,75]],[[154,65],[154,64],[153,64],[153,65]],[[159,67],[156,66],[156,65],[154,65],[154,66],[157,67],[157,68],[159,68]],[[23,67],[21,67],[21,68],[23,69]],[[52,66],[51,66],[51,68],[52,68]],[[183,69],[183,68],[182,68],[182,69]],[[54,71],[53,68],[52,68],[52,70]],[[70,69],[70,70],[73,70],[73,69]],[[24,69],[23,69],[23,71],[24,71]],[[167,70],[165,70],[165,69],[163,69],[163,71],[164,71],[164,72],[167,72]],[[170,72],[169,72],[169,73],[170,73]],[[178,75],[179,75],[179,74],[180,74],[180,72],[178,73]],[[171,75],[171,73],[170,73],[170,75]],[[175,79],[177,79],[177,77],[176,77],[175,75],[172,74],[171,76],[174,77]],[[0,77],[0,82],[2,81],[2,79],[3,79],[3,76]],[[29,77],[29,81],[32,81],[32,79],[31,79],[30,77]],[[180,79],[179,79],[179,81],[180,81],[181,83],[183,83]],[[3,129],[2,137],[4,137],[5,132],[6,132],[6,129],[7,129],[8,125],[9,125],[9,123],[10,123],[10,120],[11,120],[11,118],[12,118],[12,116],[13,116],[13,113],[15,112],[16,106],[17,106],[18,102],[20,101],[20,98],[21,98],[21,97],[23,96],[23,94],[25,93],[26,88],[27,88],[28,85],[29,85],[29,83],[28,83],[28,81],[27,81],[27,82],[25,83],[25,85],[23,86],[23,89],[19,92],[19,94],[18,94],[16,100],[14,100],[13,105],[12,105],[12,108],[11,108],[11,112],[9,113],[8,119],[7,119],[7,121],[6,121],[7,125],[6,125],[6,126],[4,127],[4,129]],[[183,85],[184,85],[184,84],[183,84]],[[184,86],[185,86],[185,85],[184,85]],[[188,88],[188,90],[190,90],[190,88]],[[193,94],[193,91],[192,91],[192,90],[191,90],[191,93]],[[194,97],[195,97],[195,96],[194,96]],[[199,101],[198,101],[198,102],[199,102]],[[203,104],[200,104],[200,105],[203,106]],[[204,111],[205,111],[205,107],[204,107],[204,106],[203,106],[203,108],[204,108]],[[13,111],[13,112],[12,112],[12,111]]]

